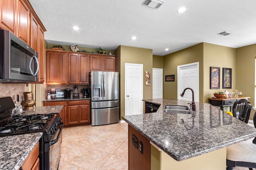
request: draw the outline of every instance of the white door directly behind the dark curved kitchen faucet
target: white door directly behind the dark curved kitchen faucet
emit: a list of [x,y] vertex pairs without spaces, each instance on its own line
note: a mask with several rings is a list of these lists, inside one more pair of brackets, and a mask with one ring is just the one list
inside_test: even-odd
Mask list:
[[192,91],[183,90],[190,87],[194,90],[194,101],[199,102],[199,62],[178,66],[178,99],[192,101]]

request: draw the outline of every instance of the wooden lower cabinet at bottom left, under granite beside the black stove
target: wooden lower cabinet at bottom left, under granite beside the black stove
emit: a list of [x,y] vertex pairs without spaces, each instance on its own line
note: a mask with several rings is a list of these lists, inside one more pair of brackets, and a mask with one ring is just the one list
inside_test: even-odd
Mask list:
[[20,170],[39,170],[39,142],[23,162]]

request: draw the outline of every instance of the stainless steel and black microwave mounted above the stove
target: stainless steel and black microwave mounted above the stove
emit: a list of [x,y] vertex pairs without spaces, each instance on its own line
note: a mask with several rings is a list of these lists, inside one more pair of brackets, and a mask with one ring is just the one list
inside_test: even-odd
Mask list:
[[0,82],[38,81],[38,52],[6,30],[0,30],[0,44]]

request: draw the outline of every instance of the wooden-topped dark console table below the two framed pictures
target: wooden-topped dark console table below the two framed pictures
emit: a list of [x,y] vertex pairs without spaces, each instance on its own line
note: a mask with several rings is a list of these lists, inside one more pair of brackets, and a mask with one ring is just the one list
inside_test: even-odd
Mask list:
[[224,111],[224,107],[233,106],[234,102],[240,99],[248,99],[250,97],[238,97],[238,98],[209,98],[209,103],[213,106],[220,106],[220,109]]

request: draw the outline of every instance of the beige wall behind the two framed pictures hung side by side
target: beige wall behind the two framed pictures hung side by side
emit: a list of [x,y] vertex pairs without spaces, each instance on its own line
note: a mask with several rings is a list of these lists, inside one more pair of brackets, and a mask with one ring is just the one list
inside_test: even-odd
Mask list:
[[[236,49],[224,47],[221,45],[214,45],[204,43],[204,71],[203,71],[203,100],[208,103],[208,98],[212,97],[215,92],[228,92],[232,93],[236,88]],[[220,89],[210,89],[210,67],[220,67]],[[223,68],[232,68],[232,88],[222,88],[222,73]]]

